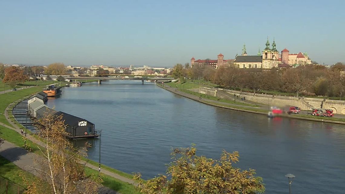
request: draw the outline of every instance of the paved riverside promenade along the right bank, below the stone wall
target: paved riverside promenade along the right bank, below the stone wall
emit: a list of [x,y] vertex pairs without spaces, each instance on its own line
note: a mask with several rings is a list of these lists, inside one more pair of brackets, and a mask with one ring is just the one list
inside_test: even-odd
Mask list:
[[[220,107],[220,108],[226,108],[226,109],[231,109],[231,110],[238,110],[238,111],[245,111],[248,113],[256,113],[256,114],[263,114],[263,115],[267,115],[268,111],[269,111],[269,106],[268,105],[262,105],[262,104],[256,104],[253,101],[249,101],[249,100],[240,100],[238,98],[234,98],[233,96],[231,96],[230,94],[224,92],[224,91],[219,91],[221,92],[222,95],[227,96],[229,98],[233,98],[235,100],[238,100],[241,102],[241,104],[230,104],[230,103],[226,103],[226,102],[221,102],[221,101],[217,101],[217,100],[212,100],[212,99],[205,99],[205,98],[199,98],[196,95],[192,95],[192,94],[188,94],[185,93],[183,91],[180,91],[178,88],[173,88],[170,87],[166,84],[160,84],[157,83],[157,86],[164,88],[172,93],[175,93],[177,95],[180,96],[184,96],[186,98],[192,99],[192,100],[196,100],[199,101],[200,103],[204,103],[204,104],[208,104],[211,106],[216,106],[216,107]],[[259,105],[259,107],[255,107],[255,105]],[[336,124],[345,124],[345,121],[341,121],[341,120],[330,120],[324,117],[304,117],[302,115],[307,115],[307,111],[301,111],[300,112],[300,116],[297,115],[288,115],[288,114],[283,114],[281,115],[282,117],[288,117],[288,118],[296,118],[296,119],[304,119],[304,120],[312,120],[312,121],[318,121],[318,122],[327,122],[327,123],[336,123]],[[309,111],[309,113],[311,113]],[[339,114],[335,114],[334,118],[339,118],[339,119],[344,119],[345,115],[339,115]]]

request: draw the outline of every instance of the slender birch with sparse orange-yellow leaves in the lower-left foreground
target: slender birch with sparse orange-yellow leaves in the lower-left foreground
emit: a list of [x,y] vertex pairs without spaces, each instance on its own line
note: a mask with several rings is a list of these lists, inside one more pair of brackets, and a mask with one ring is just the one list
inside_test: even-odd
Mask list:
[[87,146],[75,148],[66,138],[65,127],[62,115],[46,114],[38,120],[38,134],[45,146],[44,149],[39,147],[41,156],[34,158],[35,164],[31,168],[46,182],[29,184],[26,193],[40,193],[42,190],[49,194],[97,193],[101,178],[86,176],[84,165],[80,162]]

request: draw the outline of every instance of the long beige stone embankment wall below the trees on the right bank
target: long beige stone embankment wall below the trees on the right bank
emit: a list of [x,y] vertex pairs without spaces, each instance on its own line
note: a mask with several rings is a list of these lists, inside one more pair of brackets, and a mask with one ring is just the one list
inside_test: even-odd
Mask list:
[[[220,89],[223,90],[223,89]],[[336,114],[345,114],[344,100],[329,100],[322,98],[306,98],[306,97],[292,97],[292,96],[275,96],[267,94],[254,94],[236,90],[223,90],[231,95],[238,95],[245,97],[247,100],[254,101],[260,104],[267,104],[270,106],[298,106],[302,110],[311,110],[312,108],[331,108]]]

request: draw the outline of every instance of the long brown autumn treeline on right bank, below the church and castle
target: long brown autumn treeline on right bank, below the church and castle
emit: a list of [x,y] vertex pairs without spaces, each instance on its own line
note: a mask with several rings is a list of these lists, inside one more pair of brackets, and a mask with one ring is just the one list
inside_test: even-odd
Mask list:
[[[187,67],[187,68],[186,68]],[[296,93],[296,96],[342,97],[345,91],[345,65],[341,62],[331,68],[319,65],[306,65],[296,68],[240,69],[234,65],[220,67],[217,70],[208,65],[185,68],[178,64],[173,75],[211,81],[219,87]]]

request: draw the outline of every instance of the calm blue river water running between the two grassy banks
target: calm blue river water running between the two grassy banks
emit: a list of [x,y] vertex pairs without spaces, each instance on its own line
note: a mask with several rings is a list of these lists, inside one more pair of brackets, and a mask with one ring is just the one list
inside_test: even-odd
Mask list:
[[[296,176],[293,193],[344,193],[344,125],[208,106],[172,94],[153,83],[103,81],[63,88],[47,105],[85,118],[102,129],[103,164],[144,178],[164,174],[171,147],[195,143],[199,154],[219,158],[239,151],[238,167],[257,169],[268,194],[288,193],[287,173]],[[83,144],[85,139],[76,140]],[[89,158],[98,161],[99,139]]]

